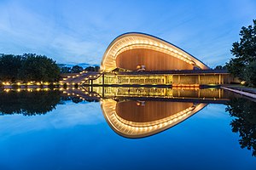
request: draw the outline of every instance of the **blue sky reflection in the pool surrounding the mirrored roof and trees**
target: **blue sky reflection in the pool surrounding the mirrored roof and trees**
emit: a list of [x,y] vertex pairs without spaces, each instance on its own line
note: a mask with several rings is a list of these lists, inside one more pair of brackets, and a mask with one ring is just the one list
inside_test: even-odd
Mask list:
[[68,100],[45,115],[0,116],[0,169],[254,169],[226,105],[210,104],[161,133],[126,139],[98,102]]

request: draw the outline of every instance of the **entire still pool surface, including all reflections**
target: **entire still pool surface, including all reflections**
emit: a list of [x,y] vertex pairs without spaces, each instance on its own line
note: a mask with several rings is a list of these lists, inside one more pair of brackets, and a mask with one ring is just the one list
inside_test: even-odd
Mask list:
[[0,91],[0,169],[256,169],[255,101],[222,89]]

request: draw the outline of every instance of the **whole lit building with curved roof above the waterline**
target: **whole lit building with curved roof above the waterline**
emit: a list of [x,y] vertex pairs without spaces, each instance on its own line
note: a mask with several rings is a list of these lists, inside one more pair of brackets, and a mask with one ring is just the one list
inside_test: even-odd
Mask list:
[[87,83],[195,87],[232,80],[226,71],[210,69],[172,43],[137,32],[120,35],[109,44],[101,71]]

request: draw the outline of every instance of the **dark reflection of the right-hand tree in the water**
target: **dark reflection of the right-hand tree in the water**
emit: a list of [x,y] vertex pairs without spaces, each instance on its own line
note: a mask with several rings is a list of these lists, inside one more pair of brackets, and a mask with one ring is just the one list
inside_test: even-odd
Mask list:
[[241,148],[253,150],[256,156],[256,107],[255,102],[248,99],[231,99],[226,111],[235,118],[230,122],[232,132],[239,133]]

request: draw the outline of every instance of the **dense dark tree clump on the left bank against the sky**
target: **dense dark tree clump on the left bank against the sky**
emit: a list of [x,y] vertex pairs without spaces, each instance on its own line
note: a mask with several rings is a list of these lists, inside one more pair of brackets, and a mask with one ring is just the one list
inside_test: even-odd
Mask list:
[[38,54],[0,54],[0,81],[56,82],[60,68],[55,60]]

